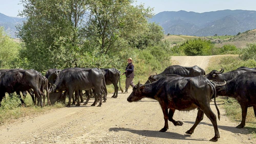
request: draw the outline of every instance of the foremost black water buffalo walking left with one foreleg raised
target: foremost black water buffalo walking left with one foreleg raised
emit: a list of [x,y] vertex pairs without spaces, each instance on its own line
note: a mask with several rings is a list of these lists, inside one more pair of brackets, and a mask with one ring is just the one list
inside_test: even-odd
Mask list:
[[[178,75],[167,75],[151,84],[141,85],[139,81],[133,88],[127,101],[133,102],[142,98],[157,100],[162,108],[165,119],[165,126],[160,132],[167,131],[169,128],[168,120],[175,126],[183,125],[183,122],[175,121],[172,118],[176,109],[189,111],[198,108],[196,122],[186,133],[191,135],[205,114],[211,120],[215,132],[215,136],[210,141],[218,141],[220,135],[217,119],[210,108],[210,99],[214,96],[214,104],[218,111],[218,118],[220,119],[220,112],[216,105],[215,97],[216,87],[223,85],[225,85],[225,83],[215,85],[215,83],[203,76],[182,77]],[[169,114],[168,108],[170,109]]]

